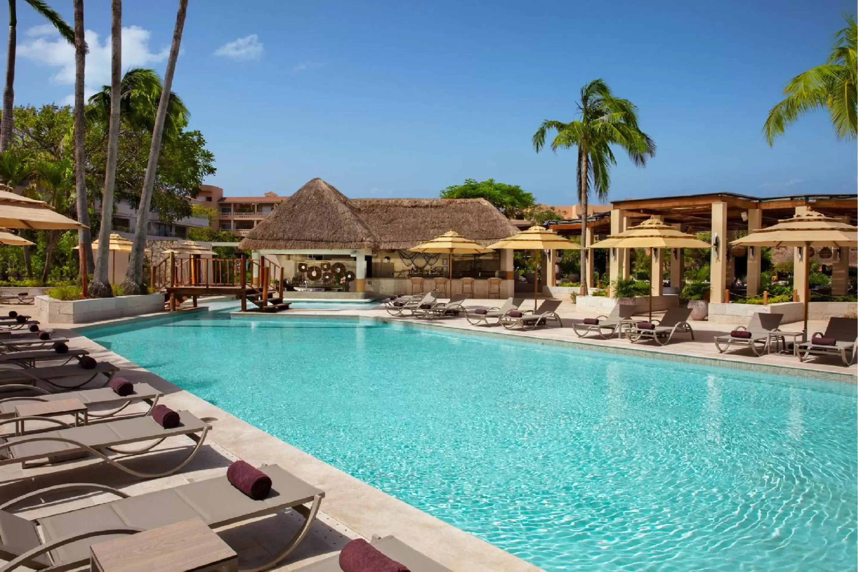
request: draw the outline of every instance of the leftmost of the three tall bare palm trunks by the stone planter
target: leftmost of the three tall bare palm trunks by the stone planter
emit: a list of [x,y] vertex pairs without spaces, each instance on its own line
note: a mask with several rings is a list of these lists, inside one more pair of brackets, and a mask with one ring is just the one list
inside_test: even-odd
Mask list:
[[[77,205],[77,221],[89,226],[89,208],[87,204],[87,173],[86,157],[84,156],[83,141],[86,136],[86,123],[83,113],[83,72],[87,62],[87,41],[84,39],[83,0],[75,0],[75,192]],[[5,102],[4,102],[5,104]],[[81,268],[81,274],[89,272],[93,260],[93,238],[88,228],[77,231],[77,244],[81,247],[86,265]]]

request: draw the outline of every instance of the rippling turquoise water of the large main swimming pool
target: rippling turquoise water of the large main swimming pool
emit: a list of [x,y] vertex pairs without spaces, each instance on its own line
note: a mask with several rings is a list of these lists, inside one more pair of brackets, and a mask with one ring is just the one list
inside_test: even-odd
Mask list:
[[219,316],[87,335],[547,570],[856,568],[855,386]]

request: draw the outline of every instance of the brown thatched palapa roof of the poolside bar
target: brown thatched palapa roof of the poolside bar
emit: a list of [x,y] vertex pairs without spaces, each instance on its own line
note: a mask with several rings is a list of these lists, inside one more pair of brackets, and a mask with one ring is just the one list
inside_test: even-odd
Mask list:
[[516,233],[485,199],[349,199],[314,178],[241,241],[242,250],[404,250],[456,231],[486,245]]

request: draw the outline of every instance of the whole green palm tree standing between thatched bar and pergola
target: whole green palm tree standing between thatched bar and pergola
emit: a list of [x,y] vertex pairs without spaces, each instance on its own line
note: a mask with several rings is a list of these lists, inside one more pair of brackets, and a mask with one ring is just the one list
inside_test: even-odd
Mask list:
[[[599,79],[581,88],[577,102],[578,118],[570,123],[546,119],[533,136],[536,153],[545,146],[551,130],[557,135],[551,142],[555,153],[559,148],[577,147],[577,194],[581,203],[581,244],[587,245],[587,202],[589,187],[595,187],[600,200],[607,199],[611,186],[611,166],[617,164],[611,147],[618,146],[629,154],[635,166],[646,166],[656,154],[656,143],[637,127],[637,107],[628,99],[613,96],[611,88]],[[587,292],[587,250],[581,250],[581,285]]]

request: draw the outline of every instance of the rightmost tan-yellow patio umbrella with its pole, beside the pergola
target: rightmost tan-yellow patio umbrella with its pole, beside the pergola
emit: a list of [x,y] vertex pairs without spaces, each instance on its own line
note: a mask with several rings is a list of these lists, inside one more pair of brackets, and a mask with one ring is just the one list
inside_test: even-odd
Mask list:
[[[858,226],[841,222],[825,214],[808,210],[790,219],[779,220],[776,225],[766,226],[747,236],[737,238],[730,244],[742,246],[792,246],[800,248],[801,256],[807,256],[808,248],[853,248],[858,246]],[[810,263],[807,264],[804,292],[804,337],[807,340],[807,306],[810,304]]]

